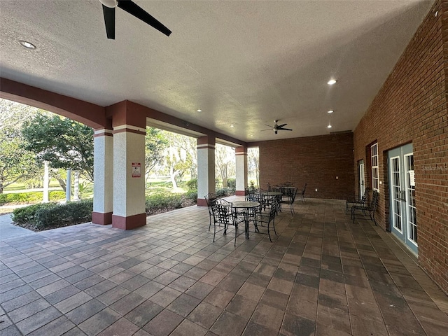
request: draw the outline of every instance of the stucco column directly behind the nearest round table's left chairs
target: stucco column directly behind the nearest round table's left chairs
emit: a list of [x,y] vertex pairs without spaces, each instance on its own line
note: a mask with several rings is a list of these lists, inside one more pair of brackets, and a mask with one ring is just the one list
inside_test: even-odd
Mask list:
[[197,139],[197,205],[207,207],[205,195],[215,193],[215,137]]

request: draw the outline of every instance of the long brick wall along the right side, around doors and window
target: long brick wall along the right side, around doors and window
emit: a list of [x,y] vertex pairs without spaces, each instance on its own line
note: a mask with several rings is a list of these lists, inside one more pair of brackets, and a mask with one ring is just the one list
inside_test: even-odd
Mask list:
[[353,162],[364,159],[367,173],[370,158],[366,146],[373,141],[378,143],[382,185],[377,218],[382,228],[389,225],[387,151],[412,143],[419,262],[445,292],[448,292],[447,8],[447,1],[435,2],[353,137]]

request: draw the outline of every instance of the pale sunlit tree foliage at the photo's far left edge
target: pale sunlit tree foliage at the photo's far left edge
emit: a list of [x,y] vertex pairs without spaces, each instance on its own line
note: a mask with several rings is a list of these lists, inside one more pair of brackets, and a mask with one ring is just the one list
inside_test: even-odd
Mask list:
[[3,128],[0,132],[0,194],[10,184],[34,177],[38,168],[34,154],[24,148],[20,132],[12,127]]

